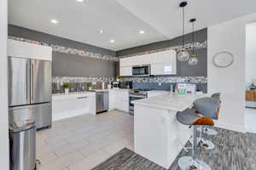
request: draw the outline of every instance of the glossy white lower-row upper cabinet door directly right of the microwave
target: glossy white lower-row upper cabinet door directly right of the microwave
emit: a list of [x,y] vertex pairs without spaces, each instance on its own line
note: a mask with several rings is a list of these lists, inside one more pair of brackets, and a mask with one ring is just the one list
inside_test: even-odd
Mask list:
[[151,65],[151,75],[175,75],[176,65],[172,63],[160,63]]

